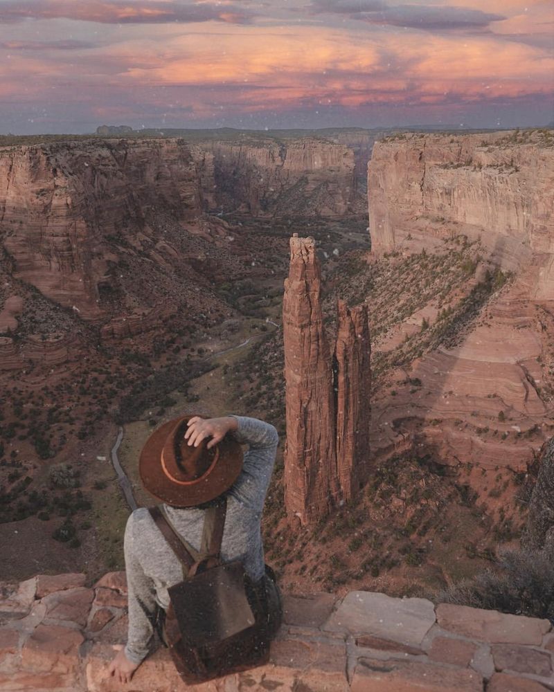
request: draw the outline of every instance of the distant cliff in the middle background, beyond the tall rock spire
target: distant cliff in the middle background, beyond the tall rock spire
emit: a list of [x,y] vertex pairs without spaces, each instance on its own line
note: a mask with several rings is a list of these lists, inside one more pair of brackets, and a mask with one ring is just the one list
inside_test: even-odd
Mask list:
[[341,217],[360,210],[354,152],[346,145],[244,136],[199,147],[213,154],[218,210],[262,217]]

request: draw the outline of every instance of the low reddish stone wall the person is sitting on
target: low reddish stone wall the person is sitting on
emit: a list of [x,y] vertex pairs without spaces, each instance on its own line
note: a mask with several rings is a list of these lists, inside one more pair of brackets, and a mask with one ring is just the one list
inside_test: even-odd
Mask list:
[[[109,692],[107,668],[127,637],[124,572],[93,588],[84,574],[1,585],[0,690]],[[269,663],[195,686],[263,692],[546,691],[553,681],[548,620],[421,598],[352,591],[284,597]],[[184,689],[166,648],[154,644],[134,674],[136,692]]]

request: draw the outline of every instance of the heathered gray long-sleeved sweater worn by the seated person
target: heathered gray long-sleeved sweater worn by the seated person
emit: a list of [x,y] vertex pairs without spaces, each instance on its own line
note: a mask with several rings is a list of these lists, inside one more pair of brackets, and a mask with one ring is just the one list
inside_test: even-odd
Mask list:
[[[251,578],[258,581],[264,574],[260,520],[279,438],[274,426],[264,421],[233,417],[238,421],[238,430],[228,434],[240,444],[248,444],[249,449],[244,453],[242,471],[227,493],[222,558],[224,561],[242,560]],[[163,509],[181,536],[199,549],[204,510],[177,509],[168,504],[164,504]],[[157,605],[167,610],[168,588],[183,580],[183,569],[145,507],[129,516],[124,546],[129,589],[125,655],[132,663],[140,663],[149,651],[152,617]]]

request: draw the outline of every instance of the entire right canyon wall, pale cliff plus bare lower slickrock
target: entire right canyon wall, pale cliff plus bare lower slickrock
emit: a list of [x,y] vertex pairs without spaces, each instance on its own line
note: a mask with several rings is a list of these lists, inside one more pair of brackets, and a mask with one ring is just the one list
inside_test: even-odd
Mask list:
[[[536,459],[554,415],[553,170],[552,138],[542,131],[406,134],[375,144],[368,167],[373,261],[393,253],[384,260],[393,266],[426,250],[429,257],[454,252],[455,262],[470,246],[461,237],[475,243],[465,282],[454,287],[448,272],[456,270],[448,268],[448,297],[433,296],[381,334],[377,356],[400,353],[423,329],[440,330],[441,311],[490,286],[497,267],[506,272],[481,309],[453,325],[456,338],[451,331],[447,343],[391,371],[391,389],[373,401],[377,455],[416,444],[450,464],[519,473]],[[420,258],[414,261],[428,281],[436,280]]]

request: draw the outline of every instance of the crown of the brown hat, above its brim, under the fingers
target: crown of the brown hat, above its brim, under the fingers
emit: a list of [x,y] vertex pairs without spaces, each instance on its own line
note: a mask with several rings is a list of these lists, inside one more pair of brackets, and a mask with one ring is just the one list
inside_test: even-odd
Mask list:
[[163,472],[175,482],[193,483],[207,473],[217,459],[217,446],[206,448],[206,440],[191,446],[184,437],[187,421],[177,421],[161,450]]

